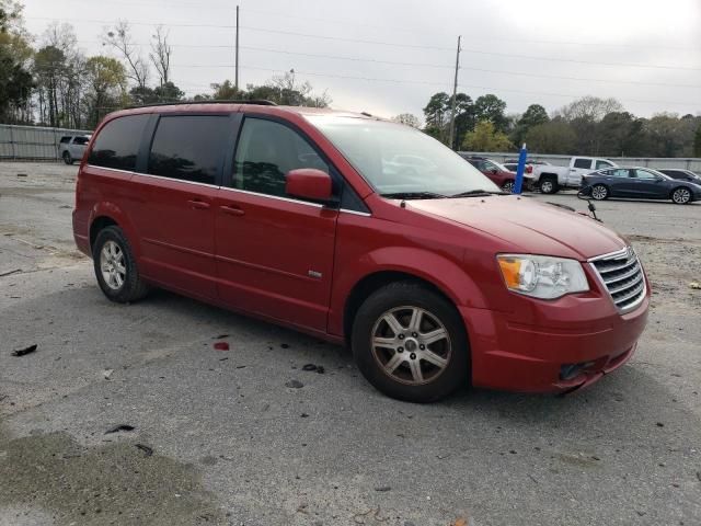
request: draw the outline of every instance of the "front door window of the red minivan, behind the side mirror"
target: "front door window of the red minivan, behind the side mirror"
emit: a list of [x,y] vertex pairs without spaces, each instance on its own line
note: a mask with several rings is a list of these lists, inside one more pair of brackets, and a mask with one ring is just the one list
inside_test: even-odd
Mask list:
[[237,147],[233,186],[285,195],[285,175],[298,168],[329,173],[329,165],[297,132],[272,121],[246,117]]

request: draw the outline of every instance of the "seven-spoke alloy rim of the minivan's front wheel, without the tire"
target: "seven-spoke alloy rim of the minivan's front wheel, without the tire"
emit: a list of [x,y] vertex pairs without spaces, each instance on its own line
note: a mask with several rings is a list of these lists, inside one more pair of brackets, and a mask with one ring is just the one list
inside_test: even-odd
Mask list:
[[412,386],[435,380],[452,355],[446,325],[428,310],[413,306],[381,315],[372,328],[370,345],[386,375]]

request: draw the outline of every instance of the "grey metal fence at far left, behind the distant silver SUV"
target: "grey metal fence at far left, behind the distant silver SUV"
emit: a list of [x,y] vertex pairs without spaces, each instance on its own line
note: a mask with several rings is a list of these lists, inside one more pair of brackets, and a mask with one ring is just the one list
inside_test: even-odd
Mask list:
[[67,135],[85,135],[85,129],[44,128],[0,124],[0,159],[58,160],[58,145]]

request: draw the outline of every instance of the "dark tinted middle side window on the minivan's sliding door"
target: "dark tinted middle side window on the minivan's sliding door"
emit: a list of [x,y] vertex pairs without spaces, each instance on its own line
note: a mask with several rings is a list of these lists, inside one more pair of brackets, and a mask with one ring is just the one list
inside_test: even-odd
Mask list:
[[149,155],[149,173],[216,184],[228,136],[226,115],[161,117]]

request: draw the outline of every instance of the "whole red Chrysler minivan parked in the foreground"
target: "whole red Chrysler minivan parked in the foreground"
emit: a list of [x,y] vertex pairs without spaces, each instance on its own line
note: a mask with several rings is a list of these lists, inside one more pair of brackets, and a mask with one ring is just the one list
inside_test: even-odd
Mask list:
[[630,358],[650,304],[620,236],[366,114],[113,113],[81,162],[73,231],[111,300],[163,287],[346,343],[375,387],[415,402],[588,385]]

